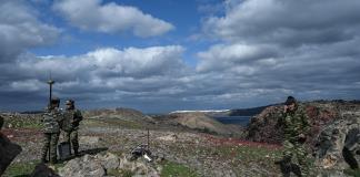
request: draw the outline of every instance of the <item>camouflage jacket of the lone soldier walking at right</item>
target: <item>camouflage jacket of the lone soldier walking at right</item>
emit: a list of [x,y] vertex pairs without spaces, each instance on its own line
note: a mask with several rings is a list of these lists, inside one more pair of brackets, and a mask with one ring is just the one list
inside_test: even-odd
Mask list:
[[280,122],[283,126],[284,138],[290,142],[299,142],[299,135],[307,135],[310,131],[309,117],[301,106],[293,112],[282,113]]

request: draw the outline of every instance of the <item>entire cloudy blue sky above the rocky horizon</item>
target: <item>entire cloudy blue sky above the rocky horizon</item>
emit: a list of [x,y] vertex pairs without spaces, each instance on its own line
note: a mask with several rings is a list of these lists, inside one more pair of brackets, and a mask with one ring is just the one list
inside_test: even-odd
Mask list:
[[0,0],[0,111],[360,98],[359,0]]

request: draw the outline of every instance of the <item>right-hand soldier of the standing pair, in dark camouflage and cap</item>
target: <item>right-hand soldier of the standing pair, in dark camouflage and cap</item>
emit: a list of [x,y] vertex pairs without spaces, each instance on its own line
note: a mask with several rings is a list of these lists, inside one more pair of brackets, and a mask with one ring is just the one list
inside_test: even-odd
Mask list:
[[64,121],[62,124],[62,129],[66,132],[66,137],[73,148],[73,153],[76,156],[79,155],[79,140],[78,140],[78,129],[79,124],[82,121],[82,115],[79,110],[74,107],[74,101],[68,100],[67,108],[64,112]]

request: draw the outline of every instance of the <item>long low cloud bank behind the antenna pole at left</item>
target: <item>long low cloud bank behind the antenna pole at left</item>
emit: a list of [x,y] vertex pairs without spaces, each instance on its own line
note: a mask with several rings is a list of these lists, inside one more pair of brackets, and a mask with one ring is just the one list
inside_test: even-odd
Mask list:
[[149,97],[168,98],[183,92],[178,86],[178,79],[190,70],[182,62],[183,51],[180,45],[168,45],[123,50],[103,48],[74,56],[24,53],[16,63],[0,64],[4,75],[11,75],[0,77],[0,92],[18,93],[18,98],[36,93],[42,95],[37,102],[43,101],[51,71],[57,82],[56,95],[82,102],[97,100],[88,103],[96,107],[104,103],[149,102]]

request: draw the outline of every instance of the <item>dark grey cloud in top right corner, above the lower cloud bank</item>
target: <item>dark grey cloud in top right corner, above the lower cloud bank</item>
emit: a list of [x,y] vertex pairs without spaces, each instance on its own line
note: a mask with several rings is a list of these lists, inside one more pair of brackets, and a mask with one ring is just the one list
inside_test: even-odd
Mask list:
[[356,0],[229,0],[224,17],[210,17],[203,29],[228,41],[282,45],[329,43],[358,34]]

